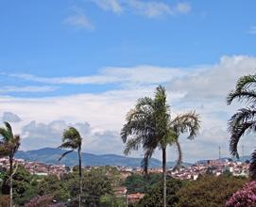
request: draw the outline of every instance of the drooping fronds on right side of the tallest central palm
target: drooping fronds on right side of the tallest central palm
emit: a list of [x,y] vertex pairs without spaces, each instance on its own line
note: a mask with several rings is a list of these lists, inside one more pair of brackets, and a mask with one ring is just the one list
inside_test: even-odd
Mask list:
[[199,115],[196,112],[189,112],[177,116],[170,123],[172,128],[178,135],[188,132],[188,139],[194,139],[200,128]]

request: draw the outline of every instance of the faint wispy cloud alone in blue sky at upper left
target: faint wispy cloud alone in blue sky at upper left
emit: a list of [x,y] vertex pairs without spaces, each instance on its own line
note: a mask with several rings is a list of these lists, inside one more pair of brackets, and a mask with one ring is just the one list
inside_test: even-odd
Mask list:
[[63,20],[63,24],[69,24],[77,28],[84,28],[87,30],[94,30],[94,24],[92,24],[86,17],[84,11],[81,8],[72,8],[73,14]]

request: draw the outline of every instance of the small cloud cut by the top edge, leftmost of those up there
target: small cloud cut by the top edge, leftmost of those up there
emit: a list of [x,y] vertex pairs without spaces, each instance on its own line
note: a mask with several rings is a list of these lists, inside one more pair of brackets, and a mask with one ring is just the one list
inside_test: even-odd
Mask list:
[[111,10],[114,13],[121,13],[123,8],[118,0],[92,0],[99,8]]

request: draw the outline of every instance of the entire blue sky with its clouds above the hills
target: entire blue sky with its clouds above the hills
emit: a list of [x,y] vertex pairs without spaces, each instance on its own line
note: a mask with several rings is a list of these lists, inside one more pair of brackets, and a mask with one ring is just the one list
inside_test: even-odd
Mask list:
[[[201,136],[211,130],[222,136],[213,144],[228,154],[226,122],[235,108],[226,106],[225,96],[239,76],[255,72],[255,7],[253,0],[2,0],[2,117],[11,112],[21,118],[13,124],[24,140],[39,135],[41,127],[86,122],[86,144],[94,148],[84,151],[112,152],[99,147],[102,137],[120,149],[128,108],[163,84],[174,112],[198,110],[206,120]],[[201,152],[185,158],[215,156],[204,150],[212,137],[201,139]]]

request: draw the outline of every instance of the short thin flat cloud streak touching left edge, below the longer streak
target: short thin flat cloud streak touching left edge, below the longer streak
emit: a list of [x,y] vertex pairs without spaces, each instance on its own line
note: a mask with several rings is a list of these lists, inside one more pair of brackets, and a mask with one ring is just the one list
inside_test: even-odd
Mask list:
[[49,92],[56,90],[56,87],[16,87],[16,86],[6,86],[0,88],[0,93],[9,93],[9,92]]

